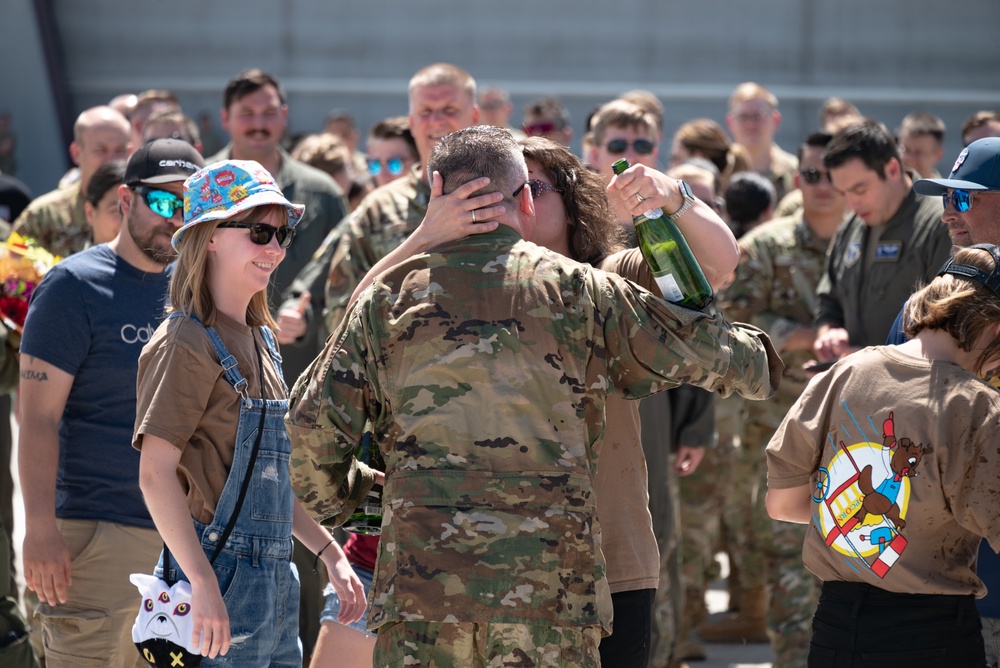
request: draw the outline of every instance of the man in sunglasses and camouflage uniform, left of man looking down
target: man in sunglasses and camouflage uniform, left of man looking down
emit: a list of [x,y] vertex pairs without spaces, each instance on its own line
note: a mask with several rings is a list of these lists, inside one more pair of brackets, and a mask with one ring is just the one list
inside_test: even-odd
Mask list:
[[706,640],[739,642],[755,634],[762,637],[766,616],[775,668],[805,667],[819,594],[815,577],[802,564],[806,525],[771,520],[764,509],[764,446],[805,389],[802,365],[814,360],[816,285],[830,239],[844,220],[844,199],[823,168],[830,139],[825,132],[806,138],[796,177],[802,210],[740,239],[736,279],[720,296],[727,318],[753,323],[771,336],[786,367],[774,399],[745,402],[743,447],[730,501],[740,521],[732,545],[742,556],[740,611],[699,630]]

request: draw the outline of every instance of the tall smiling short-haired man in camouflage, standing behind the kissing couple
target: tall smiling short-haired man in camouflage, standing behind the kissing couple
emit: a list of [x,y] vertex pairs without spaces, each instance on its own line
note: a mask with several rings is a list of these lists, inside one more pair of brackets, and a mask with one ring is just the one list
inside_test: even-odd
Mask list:
[[[323,305],[323,324],[332,332],[343,320],[354,288],[376,262],[410,236],[427,213],[431,189],[424,165],[438,139],[479,122],[476,81],[468,72],[447,63],[428,65],[410,79],[410,132],[420,159],[413,170],[375,189],[323,241],[313,259],[285,293],[285,305],[294,306],[309,292],[314,309]],[[309,314],[309,327],[318,325]]]

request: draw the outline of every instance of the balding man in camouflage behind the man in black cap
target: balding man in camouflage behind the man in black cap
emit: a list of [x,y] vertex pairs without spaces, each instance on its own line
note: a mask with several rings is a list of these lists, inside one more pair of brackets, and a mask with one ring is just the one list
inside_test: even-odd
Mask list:
[[34,200],[14,221],[14,232],[32,237],[53,255],[66,257],[88,247],[93,240],[83,212],[84,193],[98,167],[129,156],[131,126],[111,107],[92,107],[73,125],[69,153],[80,168],[75,183]]

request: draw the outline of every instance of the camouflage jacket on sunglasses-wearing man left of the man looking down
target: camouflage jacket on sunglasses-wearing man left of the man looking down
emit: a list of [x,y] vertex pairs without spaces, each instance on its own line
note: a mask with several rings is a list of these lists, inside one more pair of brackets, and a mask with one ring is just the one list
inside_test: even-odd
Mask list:
[[[829,242],[813,234],[800,211],[754,228],[739,244],[736,278],[719,295],[719,308],[730,321],[760,327],[781,351],[796,329],[812,327]],[[777,396],[767,406],[748,406],[751,413],[774,413],[775,428],[806,387],[802,365],[815,359],[809,350],[782,352],[781,357],[785,372]]]

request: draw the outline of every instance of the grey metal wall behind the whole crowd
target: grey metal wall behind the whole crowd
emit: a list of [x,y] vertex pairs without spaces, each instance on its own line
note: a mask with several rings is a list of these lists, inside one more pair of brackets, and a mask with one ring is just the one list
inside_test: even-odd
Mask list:
[[[292,132],[317,129],[331,107],[364,130],[406,112],[413,72],[448,61],[508,88],[519,107],[560,95],[577,135],[595,105],[648,88],[667,105],[669,136],[690,118],[721,121],[732,88],[756,80],[781,99],[786,147],[840,95],[890,127],[912,110],[941,116],[947,170],[962,120],[1000,108],[997,0],[51,1],[76,111],[166,87],[189,114],[217,118],[226,81],[258,66],[287,88]],[[37,86],[20,76],[37,51],[34,27],[4,18],[30,19],[31,4],[3,0],[0,90]],[[44,88],[32,95],[46,104]],[[46,143],[50,118],[25,113],[17,95],[0,107],[14,111],[23,165],[58,161],[29,149]]]

